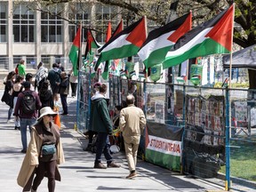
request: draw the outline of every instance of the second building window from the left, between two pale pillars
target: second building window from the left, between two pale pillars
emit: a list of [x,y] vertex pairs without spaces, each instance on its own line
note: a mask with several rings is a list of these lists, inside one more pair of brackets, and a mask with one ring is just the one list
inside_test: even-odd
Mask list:
[[26,4],[13,4],[14,42],[35,42],[35,12]]

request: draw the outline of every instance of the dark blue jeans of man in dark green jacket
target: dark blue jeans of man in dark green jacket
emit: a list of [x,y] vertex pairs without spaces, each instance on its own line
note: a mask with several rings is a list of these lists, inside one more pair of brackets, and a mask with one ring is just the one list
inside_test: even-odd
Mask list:
[[110,155],[110,142],[108,140],[107,132],[98,132],[96,147],[95,164],[101,163],[102,152],[107,160],[107,163],[110,164],[112,162],[112,156]]

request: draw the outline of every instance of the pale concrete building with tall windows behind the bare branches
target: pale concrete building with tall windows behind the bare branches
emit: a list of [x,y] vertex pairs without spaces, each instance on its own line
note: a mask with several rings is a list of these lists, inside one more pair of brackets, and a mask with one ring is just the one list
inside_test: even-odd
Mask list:
[[50,7],[36,1],[0,0],[0,71],[12,70],[20,59],[25,60],[28,70],[36,70],[41,60],[49,68],[53,62],[71,68],[68,53],[76,36],[77,22],[82,22],[84,27],[84,52],[85,28],[97,28],[96,39],[103,44],[108,21],[111,20],[112,28],[120,21],[112,16],[114,12],[115,7],[93,1]]

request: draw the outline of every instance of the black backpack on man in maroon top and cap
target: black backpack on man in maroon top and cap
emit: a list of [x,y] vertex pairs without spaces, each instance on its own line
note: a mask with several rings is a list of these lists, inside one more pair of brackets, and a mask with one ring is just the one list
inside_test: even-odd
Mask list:
[[22,109],[25,114],[33,114],[36,110],[36,99],[32,92],[23,92]]

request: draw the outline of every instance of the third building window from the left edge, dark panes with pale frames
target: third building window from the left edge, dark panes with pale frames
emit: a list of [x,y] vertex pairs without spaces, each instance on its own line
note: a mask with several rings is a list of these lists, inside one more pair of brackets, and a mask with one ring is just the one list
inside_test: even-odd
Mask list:
[[62,42],[62,20],[58,6],[51,9],[52,14],[41,12],[41,41]]

